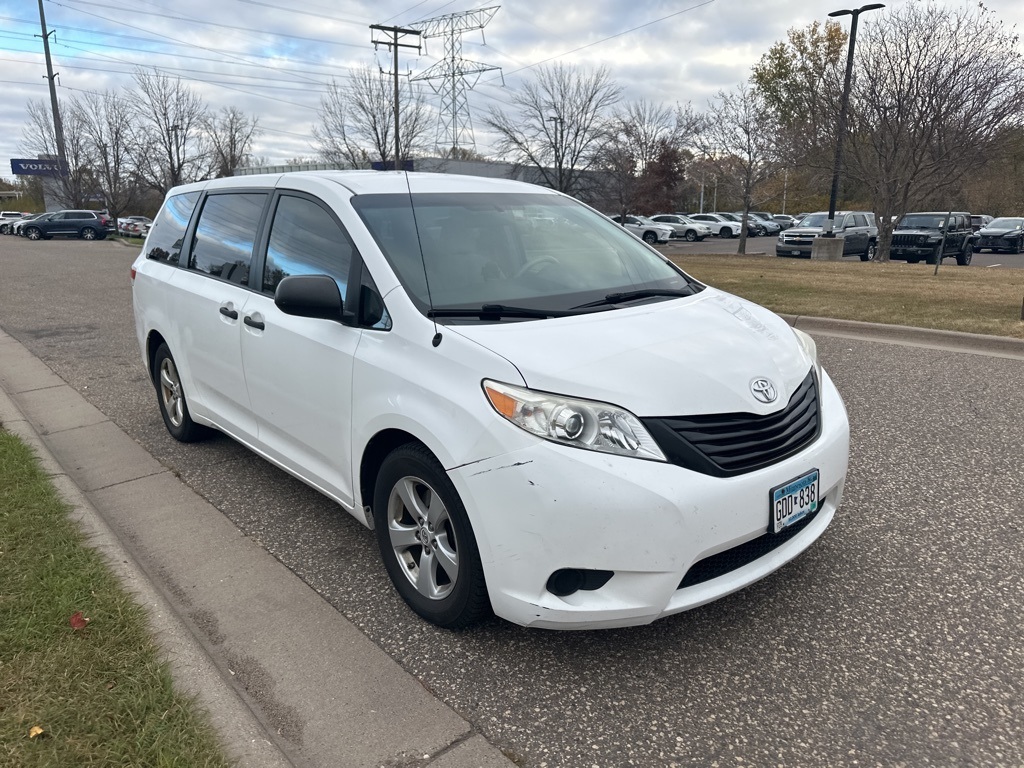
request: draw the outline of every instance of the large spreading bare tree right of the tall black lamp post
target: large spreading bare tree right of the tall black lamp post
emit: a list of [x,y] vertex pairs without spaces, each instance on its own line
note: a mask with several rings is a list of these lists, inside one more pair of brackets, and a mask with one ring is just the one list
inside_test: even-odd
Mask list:
[[984,6],[918,3],[868,26],[858,51],[848,169],[870,190],[888,260],[893,217],[963,205],[966,175],[1021,126],[1024,56]]

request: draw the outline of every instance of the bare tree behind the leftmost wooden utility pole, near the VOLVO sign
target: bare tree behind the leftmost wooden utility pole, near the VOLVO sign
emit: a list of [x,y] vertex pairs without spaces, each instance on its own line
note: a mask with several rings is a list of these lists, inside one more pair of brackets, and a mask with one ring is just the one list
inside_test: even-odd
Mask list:
[[[65,152],[68,161],[67,173],[52,177],[52,183],[44,184],[57,205],[63,208],[84,208],[95,191],[92,177],[92,160],[88,142],[80,125],[80,113],[61,101],[58,109],[63,119]],[[29,101],[26,104],[29,120],[22,133],[20,152],[32,157],[56,159],[57,145],[53,133],[53,120],[49,104],[45,101]]]

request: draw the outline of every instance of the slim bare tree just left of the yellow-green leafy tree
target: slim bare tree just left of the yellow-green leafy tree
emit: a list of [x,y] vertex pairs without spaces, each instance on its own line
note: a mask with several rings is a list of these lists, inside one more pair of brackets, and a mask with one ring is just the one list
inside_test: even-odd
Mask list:
[[761,93],[740,84],[726,93],[720,91],[711,102],[698,148],[742,199],[739,253],[746,253],[746,215],[765,182],[779,167],[774,115]]

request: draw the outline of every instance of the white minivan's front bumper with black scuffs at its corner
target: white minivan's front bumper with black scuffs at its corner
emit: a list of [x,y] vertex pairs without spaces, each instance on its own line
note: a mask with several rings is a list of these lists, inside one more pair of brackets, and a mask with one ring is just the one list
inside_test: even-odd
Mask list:
[[[821,536],[842,500],[849,455],[846,410],[827,375],[821,427],[797,456],[731,478],[549,442],[449,474],[469,511],[498,615],[551,629],[626,627],[735,592]],[[811,468],[825,499],[813,520],[767,554],[680,588],[694,563],[765,536],[769,489]],[[613,575],[599,589],[558,597],[546,585],[561,568]]]

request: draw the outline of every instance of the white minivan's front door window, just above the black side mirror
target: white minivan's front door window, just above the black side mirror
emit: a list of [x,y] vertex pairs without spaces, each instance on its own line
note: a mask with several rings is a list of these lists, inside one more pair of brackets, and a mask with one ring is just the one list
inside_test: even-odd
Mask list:
[[291,274],[327,274],[337,282],[344,301],[354,250],[327,209],[306,198],[283,195],[270,225],[263,292],[273,295]]

